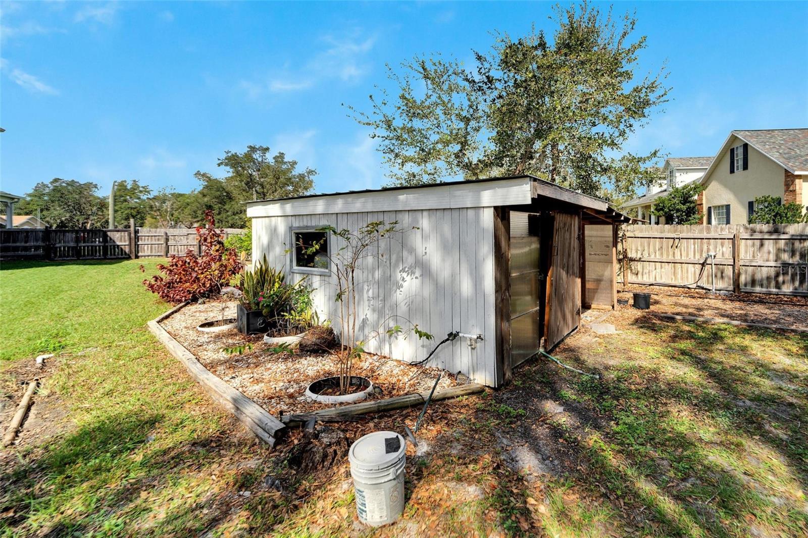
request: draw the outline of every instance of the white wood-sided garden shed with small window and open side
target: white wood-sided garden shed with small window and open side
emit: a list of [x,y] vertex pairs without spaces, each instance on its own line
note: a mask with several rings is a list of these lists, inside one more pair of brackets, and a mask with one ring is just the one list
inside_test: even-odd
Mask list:
[[[298,254],[294,237],[330,236],[318,230],[323,226],[358,230],[369,222],[398,221],[405,231],[385,237],[378,254],[364,258],[359,332],[384,332],[380,325],[398,317],[436,339],[385,334],[368,351],[413,362],[450,332],[479,334],[481,340],[444,344],[429,364],[492,387],[506,383],[511,368],[542,345],[549,350],[575,330],[588,296],[614,306],[614,225],[628,221],[604,200],[528,175],[258,200],[246,211],[253,260],[266,255],[288,279],[306,276],[318,313],[331,320],[339,317],[335,277]],[[585,275],[584,230],[598,224],[599,236],[608,226],[612,251],[606,266],[598,254],[598,272],[606,279],[593,284]],[[323,248],[333,252],[339,241],[327,237]],[[608,262],[611,270],[604,272]]]

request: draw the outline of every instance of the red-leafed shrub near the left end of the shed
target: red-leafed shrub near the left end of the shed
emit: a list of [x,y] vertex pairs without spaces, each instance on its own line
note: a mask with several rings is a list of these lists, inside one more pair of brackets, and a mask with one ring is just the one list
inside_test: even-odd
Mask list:
[[[197,256],[191,249],[184,256],[171,254],[168,265],[161,263],[157,266],[163,276],[154,275],[151,280],[143,281],[146,288],[165,301],[181,303],[218,293],[242,271],[236,250],[225,248],[222,231],[216,229],[213,211],[204,212],[204,218],[207,225],[196,229],[196,241],[202,246],[202,255]],[[142,265],[141,271],[145,271]]]

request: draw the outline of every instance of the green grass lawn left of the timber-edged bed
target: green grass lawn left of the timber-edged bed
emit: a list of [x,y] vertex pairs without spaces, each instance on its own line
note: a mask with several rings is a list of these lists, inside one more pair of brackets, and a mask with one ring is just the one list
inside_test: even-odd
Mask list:
[[261,453],[229,439],[228,418],[145,329],[169,305],[141,286],[140,264],[2,263],[0,375],[56,353],[40,393],[68,418],[0,471],[0,536],[203,531],[221,515],[193,507],[242,480],[221,451]]

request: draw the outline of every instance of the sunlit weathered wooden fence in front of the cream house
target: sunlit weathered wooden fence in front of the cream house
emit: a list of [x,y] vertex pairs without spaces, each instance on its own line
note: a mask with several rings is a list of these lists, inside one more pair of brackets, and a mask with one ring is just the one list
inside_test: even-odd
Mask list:
[[621,282],[808,296],[808,224],[629,225],[620,241]]

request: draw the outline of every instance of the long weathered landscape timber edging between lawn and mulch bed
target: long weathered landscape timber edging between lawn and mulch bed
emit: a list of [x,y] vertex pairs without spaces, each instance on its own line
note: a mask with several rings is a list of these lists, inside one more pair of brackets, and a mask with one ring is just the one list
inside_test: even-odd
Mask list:
[[191,374],[197,383],[202,385],[202,388],[207,391],[214,401],[217,401],[230,413],[234,414],[238,420],[242,421],[244,425],[250,428],[259,439],[268,443],[269,446],[274,447],[276,439],[282,431],[286,428],[283,422],[267,413],[255,401],[250,400],[244,394],[226,384],[223,380],[214,376],[208,368],[205,368],[196,356],[188,351],[183,345],[173,336],[168,334],[168,331],[162,328],[160,322],[169,317],[171,314],[176,313],[187,302],[175,306],[168,312],[155,317],[148,323],[149,330],[155,337],[166,347],[171,355],[174,355],[185,366],[188,373]]

